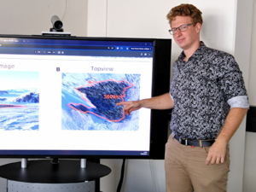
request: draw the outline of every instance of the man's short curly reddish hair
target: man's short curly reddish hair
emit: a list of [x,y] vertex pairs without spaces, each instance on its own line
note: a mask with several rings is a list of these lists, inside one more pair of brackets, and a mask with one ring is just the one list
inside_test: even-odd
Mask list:
[[200,23],[202,25],[201,10],[197,9],[193,4],[180,4],[172,8],[166,15],[169,24],[175,20],[176,16],[189,16],[193,23]]

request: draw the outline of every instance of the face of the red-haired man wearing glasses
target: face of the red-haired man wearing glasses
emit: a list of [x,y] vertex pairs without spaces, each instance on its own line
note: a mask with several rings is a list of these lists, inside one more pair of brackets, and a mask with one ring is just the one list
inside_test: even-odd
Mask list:
[[[172,20],[171,27],[176,28],[185,24],[193,23],[189,16],[176,16],[175,20]],[[201,24],[197,23],[195,26],[188,26],[187,31],[181,32],[177,29],[177,33],[173,35],[176,44],[183,50],[193,49],[200,42]]]

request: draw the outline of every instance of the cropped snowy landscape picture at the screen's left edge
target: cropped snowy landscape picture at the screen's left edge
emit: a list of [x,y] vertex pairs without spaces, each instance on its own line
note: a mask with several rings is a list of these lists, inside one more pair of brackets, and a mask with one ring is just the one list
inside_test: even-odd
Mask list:
[[0,71],[0,131],[38,131],[39,73]]

